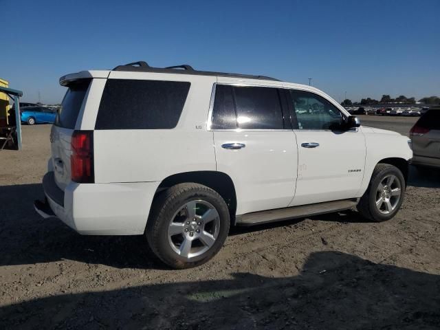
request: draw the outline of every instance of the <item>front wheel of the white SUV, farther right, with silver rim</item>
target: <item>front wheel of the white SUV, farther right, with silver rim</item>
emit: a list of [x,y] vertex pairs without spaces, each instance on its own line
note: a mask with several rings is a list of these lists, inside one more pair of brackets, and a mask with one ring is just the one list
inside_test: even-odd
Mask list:
[[369,187],[358,203],[358,211],[367,220],[382,222],[395,216],[404,201],[405,179],[399,168],[377,164]]

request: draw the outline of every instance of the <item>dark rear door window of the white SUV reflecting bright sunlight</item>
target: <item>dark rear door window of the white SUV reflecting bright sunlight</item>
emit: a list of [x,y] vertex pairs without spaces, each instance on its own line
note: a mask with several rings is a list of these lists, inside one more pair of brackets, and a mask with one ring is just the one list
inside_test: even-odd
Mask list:
[[212,129],[283,128],[278,89],[217,85]]

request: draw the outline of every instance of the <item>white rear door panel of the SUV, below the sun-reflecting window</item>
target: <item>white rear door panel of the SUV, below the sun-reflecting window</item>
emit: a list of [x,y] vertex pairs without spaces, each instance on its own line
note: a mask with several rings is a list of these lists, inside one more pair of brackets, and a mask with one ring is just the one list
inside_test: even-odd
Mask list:
[[[214,131],[217,170],[232,178],[236,214],[285,208],[295,192],[298,151],[293,131]],[[227,149],[223,144],[245,144]]]

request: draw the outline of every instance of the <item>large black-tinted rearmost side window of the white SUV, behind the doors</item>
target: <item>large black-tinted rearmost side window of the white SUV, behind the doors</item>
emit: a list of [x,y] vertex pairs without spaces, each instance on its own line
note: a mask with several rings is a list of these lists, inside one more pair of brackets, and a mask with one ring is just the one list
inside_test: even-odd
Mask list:
[[173,129],[189,89],[179,81],[109,79],[95,129]]

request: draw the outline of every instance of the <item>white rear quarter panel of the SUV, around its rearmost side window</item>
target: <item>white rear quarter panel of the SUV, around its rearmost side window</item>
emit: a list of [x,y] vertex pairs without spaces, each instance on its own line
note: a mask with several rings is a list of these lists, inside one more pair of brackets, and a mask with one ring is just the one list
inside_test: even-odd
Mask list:
[[[175,129],[94,131],[97,183],[162,181],[175,173],[216,170],[212,132],[206,130],[216,77],[111,72],[109,78],[189,81],[191,85]],[[96,111],[84,113],[83,122],[90,129],[99,102],[88,106],[96,108]],[[87,118],[87,115],[94,115],[94,118]]]

